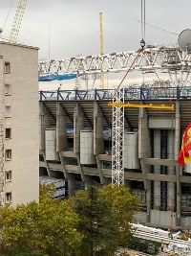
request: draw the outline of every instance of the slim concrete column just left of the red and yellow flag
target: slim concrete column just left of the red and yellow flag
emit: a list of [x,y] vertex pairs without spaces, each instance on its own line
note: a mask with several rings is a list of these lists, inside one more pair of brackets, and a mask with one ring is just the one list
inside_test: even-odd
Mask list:
[[[175,159],[177,159],[180,151],[180,103],[176,103],[176,118],[175,118]],[[177,225],[180,226],[181,213],[181,190],[180,190],[180,166],[176,165],[177,176]]]

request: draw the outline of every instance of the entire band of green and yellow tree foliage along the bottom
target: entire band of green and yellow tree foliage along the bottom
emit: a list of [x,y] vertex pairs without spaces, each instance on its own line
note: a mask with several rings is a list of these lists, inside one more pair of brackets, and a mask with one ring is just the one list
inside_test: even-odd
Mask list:
[[0,255],[111,256],[128,244],[139,203],[125,186],[90,186],[64,200],[53,187],[40,192],[39,202],[0,208]]

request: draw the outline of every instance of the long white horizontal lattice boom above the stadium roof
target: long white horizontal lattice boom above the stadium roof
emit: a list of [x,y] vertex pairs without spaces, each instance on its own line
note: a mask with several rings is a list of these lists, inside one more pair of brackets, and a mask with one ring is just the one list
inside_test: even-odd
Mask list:
[[172,86],[186,86],[191,74],[191,54],[183,53],[179,47],[146,48],[150,61],[138,51],[42,60],[38,62],[39,77],[63,74],[100,74],[107,72],[125,72],[135,61],[131,71],[153,72],[159,70],[167,74]]

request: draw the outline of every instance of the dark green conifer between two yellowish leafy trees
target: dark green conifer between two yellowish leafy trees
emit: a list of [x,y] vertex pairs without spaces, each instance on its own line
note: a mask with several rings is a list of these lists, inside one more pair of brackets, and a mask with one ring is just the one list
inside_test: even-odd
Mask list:
[[117,230],[108,200],[100,197],[96,187],[90,186],[78,191],[72,203],[79,217],[78,231],[83,236],[81,254],[113,255],[117,248]]

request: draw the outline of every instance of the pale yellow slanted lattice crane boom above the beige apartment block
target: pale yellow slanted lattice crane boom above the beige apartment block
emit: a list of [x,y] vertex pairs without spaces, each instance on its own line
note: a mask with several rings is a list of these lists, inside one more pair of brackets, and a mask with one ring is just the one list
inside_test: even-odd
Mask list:
[[25,12],[26,4],[27,4],[27,0],[18,1],[16,12],[14,15],[14,20],[11,27],[11,35],[9,39],[9,41],[12,43],[15,43],[17,41],[17,37],[20,31],[21,22],[23,19],[23,14]]

